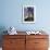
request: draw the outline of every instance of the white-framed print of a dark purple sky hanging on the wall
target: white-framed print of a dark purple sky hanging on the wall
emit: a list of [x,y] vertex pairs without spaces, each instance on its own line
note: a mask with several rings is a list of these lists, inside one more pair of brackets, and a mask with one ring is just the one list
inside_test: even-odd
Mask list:
[[23,5],[23,23],[35,23],[35,5]]

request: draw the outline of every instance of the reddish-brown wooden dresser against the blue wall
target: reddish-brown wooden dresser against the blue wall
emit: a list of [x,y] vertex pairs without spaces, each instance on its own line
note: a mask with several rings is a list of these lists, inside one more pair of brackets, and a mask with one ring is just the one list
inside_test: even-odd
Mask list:
[[48,50],[48,35],[3,35],[3,50]]

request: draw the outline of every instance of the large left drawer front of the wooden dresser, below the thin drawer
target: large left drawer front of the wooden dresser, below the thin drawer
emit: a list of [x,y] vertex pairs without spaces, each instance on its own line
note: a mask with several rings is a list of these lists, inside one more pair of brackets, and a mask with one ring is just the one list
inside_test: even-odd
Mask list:
[[3,49],[9,50],[24,50],[25,49],[25,39],[4,39]]

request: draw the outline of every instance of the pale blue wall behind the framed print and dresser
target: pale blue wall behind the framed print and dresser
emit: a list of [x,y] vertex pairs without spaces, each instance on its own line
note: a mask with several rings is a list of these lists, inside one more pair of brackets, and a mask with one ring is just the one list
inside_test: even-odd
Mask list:
[[[22,22],[22,7],[36,5],[35,24]],[[0,0],[0,27],[14,26],[17,30],[50,30],[50,0]]]

